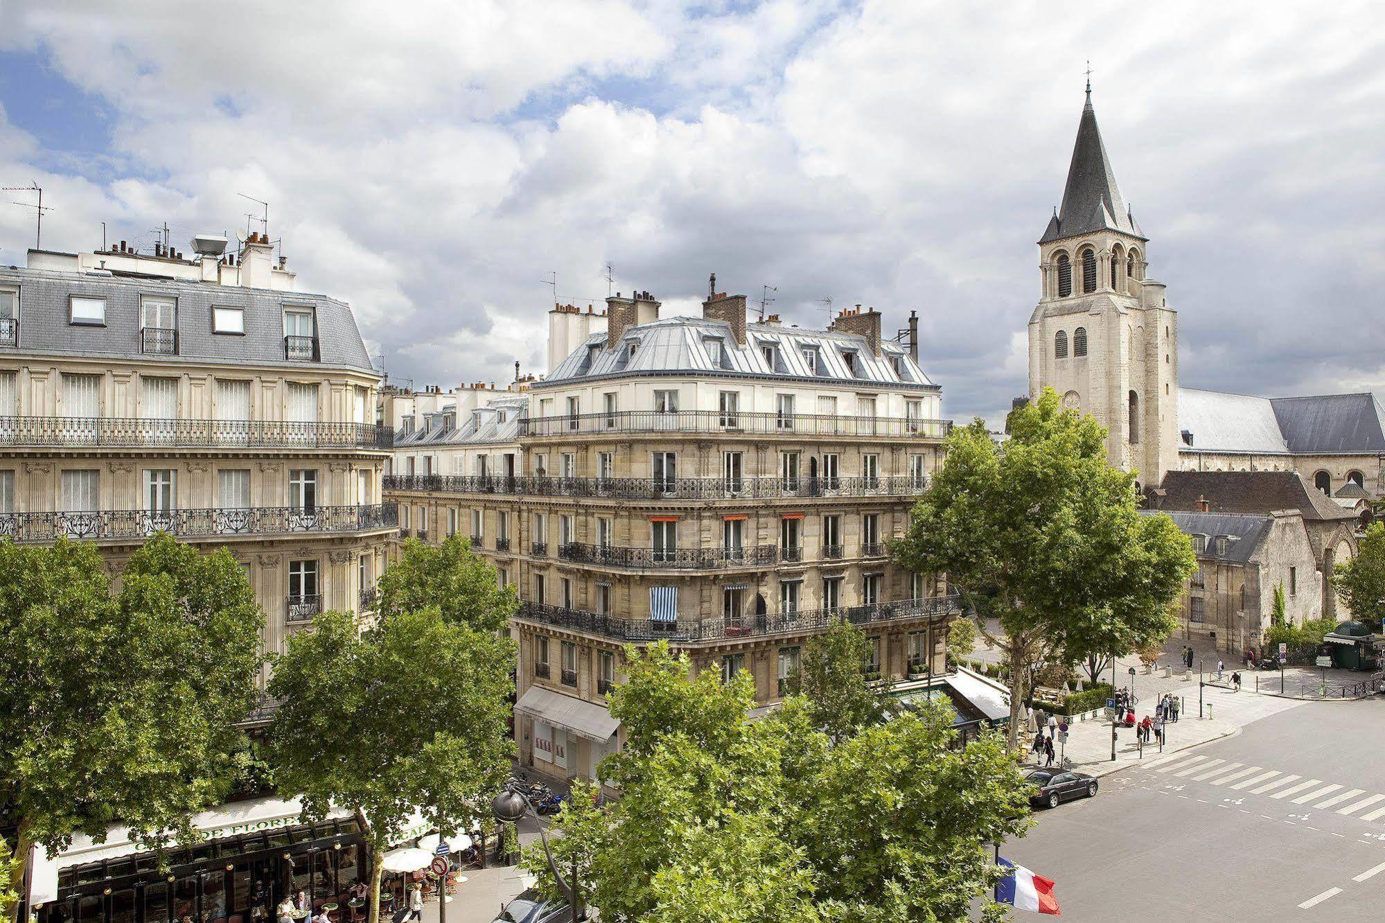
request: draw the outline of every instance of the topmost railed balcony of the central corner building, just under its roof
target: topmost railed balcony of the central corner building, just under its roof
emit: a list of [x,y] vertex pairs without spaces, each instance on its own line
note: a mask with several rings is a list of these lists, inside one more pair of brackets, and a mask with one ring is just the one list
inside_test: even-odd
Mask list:
[[810,413],[722,413],[719,410],[619,410],[519,420],[521,437],[609,435],[625,432],[695,432],[730,435],[803,435],[839,438],[942,439],[950,420],[914,417],[820,416]]

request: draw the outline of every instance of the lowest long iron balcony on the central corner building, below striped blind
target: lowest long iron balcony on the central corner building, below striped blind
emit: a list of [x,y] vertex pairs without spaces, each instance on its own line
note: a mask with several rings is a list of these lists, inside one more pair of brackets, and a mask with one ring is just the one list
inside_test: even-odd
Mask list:
[[[702,621],[659,621],[618,618],[580,608],[562,608],[561,606],[521,601],[515,618],[554,628],[586,632],[589,635],[600,635],[601,638],[620,642],[669,640],[690,643],[821,631],[843,619],[855,625],[899,622],[918,618],[940,619],[960,610],[957,596],[931,596],[895,603],[877,603],[874,606],[744,615],[734,619],[717,617]],[[546,664],[540,665],[544,669],[547,668]],[[540,665],[535,667],[536,674]],[[547,674],[543,674],[543,676],[547,678]]]

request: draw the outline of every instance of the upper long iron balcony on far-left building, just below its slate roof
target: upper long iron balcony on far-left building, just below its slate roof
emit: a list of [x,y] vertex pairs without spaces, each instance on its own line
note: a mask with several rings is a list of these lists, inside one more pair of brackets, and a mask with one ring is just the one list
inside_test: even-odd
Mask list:
[[373,423],[0,417],[0,445],[108,449],[389,449],[395,445],[395,434],[388,427],[377,427]]

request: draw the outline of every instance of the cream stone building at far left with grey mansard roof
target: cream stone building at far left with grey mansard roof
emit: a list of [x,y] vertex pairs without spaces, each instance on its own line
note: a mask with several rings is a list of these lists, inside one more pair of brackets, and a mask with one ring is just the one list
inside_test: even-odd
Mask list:
[[374,592],[392,431],[350,308],[295,291],[251,234],[0,269],[0,535],[96,542],[112,572],[155,531],[231,549],[265,647]]

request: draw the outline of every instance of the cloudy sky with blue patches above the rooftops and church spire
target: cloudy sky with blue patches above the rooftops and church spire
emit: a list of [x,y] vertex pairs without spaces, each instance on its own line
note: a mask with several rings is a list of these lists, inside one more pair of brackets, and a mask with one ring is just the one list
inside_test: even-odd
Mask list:
[[[1368,3],[0,0],[0,180],[43,243],[271,202],[396,378],[542,371],[546,312],[708,273],[922,317],[950,417],[1025,389],[1082,72],[1186,385],[1385,389],[1385,8]],[[24,200],[21,193],[7,194]],[[32,209],[0,206],[22,263]]]

